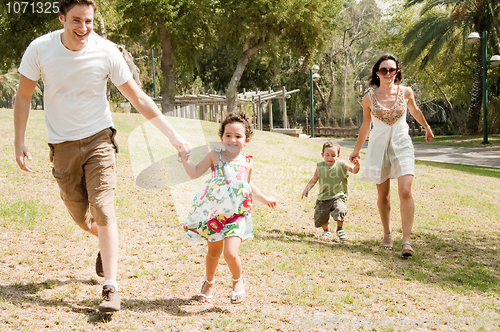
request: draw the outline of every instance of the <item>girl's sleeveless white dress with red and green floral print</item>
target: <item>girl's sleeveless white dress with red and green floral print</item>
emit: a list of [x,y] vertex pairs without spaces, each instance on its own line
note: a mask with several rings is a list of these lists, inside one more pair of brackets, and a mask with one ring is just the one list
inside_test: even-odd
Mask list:
[[248,163],[219,161],[212,165],[212,177],[205,182],[193,199],[187,220],[182,223],[187,236],[196,241],[221,241],[228,236],[241,240],[253,237],[252,189],[248,183]]

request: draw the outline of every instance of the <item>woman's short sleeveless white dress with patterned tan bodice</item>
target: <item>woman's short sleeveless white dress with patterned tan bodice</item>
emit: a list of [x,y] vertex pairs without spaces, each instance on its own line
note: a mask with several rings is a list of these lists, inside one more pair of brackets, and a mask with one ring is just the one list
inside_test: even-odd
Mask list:
[[370,131],[364,166],[359,179],[377,184],[406,174],[415,174],[415,155],[408,133],[406,111],[408,99],[398,87],[396,102],[391,108],[380,105],[373,91],[371,101],[373,127]]

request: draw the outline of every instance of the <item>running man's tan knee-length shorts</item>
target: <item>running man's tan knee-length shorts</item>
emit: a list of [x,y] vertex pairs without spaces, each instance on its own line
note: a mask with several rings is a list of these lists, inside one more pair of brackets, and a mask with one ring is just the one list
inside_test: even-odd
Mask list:
[[106,128],[90,137],[50,144],[52,175],[61,198],[78,226],[89,230],[116,223],[116,130]]

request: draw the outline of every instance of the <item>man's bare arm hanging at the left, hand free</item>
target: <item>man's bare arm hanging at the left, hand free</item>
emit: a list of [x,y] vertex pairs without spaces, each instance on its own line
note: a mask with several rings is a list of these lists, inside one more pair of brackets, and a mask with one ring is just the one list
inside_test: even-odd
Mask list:
[[31,107],[31,96],[35,91],[37,81],[32,81],[24,75],[19,76],[19,87],[14,102],[14,147],[16,149],[16,161],[19,167],[27,172],[31,168],[26,165],[24,158],[31,160],[31,155],[24,144],[24,135]]

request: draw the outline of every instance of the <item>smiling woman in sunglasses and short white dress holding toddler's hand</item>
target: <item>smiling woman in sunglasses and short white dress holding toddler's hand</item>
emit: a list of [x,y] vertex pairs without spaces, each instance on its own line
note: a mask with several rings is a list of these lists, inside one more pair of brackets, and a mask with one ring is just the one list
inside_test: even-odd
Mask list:
[[[415,102],[412,88],[398,84],[402,79],[401,65],[392,54],[381,56],[373,66],[368,80],[375,88],[363,96],[363,124],[350,160],[359,158],[359,150],[370,134],[360,180],[375,182],[377,185],[377,206],[384,227],[381,245],[392,249],[390,179],[397,178],[403,228],[401,254],[403,257],[410,257],[413,256],[410,236],[415,205],[411,183],[415,173],[415,158],[408,134],[406,110],[424,127],[427,142],[434,139],[434,134]],[[372,122],[373,129],[370,131]]]

